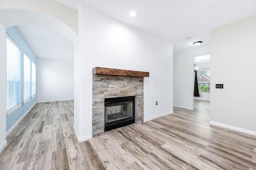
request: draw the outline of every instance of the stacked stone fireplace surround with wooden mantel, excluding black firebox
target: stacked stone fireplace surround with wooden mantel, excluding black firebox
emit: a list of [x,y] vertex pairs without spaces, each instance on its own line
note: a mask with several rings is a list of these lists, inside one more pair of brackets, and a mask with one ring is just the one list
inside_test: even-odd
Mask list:
[[104,99],[135,96],[135,123],[144,120],[144,77],[148,72],[94,67],[92,76],[92,137],[104,134]]

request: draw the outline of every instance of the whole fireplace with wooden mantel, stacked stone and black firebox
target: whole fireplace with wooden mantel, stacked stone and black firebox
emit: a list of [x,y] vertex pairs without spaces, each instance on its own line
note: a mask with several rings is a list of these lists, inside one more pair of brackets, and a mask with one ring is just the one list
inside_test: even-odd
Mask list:
[[[92,74],[92,137],[143,122],[144,77],[149,77],[148,72],[94,67]],[[126,97],[132,99],[124,100]]]

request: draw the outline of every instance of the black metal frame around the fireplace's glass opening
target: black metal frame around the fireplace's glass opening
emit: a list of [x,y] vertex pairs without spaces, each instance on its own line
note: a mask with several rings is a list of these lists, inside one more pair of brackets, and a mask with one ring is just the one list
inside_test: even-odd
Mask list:
[[127,125],[131,125],[135,123],[135,96],[127,96],[127,97],[114,97],[114,98],[105,98],[104,104],[110,104],[110,103],[118,103],[118,102],[124,102],[124,101],[133,101],[132,103],[132,115],[133,117],[129,117],[126,119],[121,119],[118,121],[113,121],[110,123],[104,124],[104,132],[107,132],[109,130],[113,130],[116,128],[124,127]]

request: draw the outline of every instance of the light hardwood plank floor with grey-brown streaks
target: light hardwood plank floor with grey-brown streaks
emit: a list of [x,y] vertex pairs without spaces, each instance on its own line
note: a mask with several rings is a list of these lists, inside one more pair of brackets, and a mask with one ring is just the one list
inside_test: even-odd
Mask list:
[[256,136],[209,125],[209,102],[77,142],[74,101],[38,103],[8,135],[1,170],[256,170]]

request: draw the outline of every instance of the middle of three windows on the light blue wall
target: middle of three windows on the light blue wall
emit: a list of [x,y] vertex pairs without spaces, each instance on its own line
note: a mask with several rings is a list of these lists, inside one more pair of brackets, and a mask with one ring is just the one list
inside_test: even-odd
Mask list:
[[24,53],[24,101],[30,99],[30,87],[31,87],[31,79],[30,79],[30,57],[26,53]]

